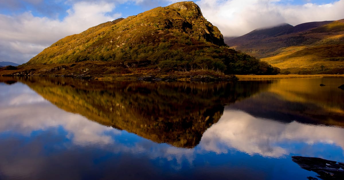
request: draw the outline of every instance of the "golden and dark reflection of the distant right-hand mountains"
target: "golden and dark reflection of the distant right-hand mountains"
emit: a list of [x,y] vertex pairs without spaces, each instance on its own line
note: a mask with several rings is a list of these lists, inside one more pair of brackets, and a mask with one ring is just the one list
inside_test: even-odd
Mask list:
[[[326,86],[319,86],[320,83]],[[274,121],[344,127],[343,78],[281,79],[231,108]]]

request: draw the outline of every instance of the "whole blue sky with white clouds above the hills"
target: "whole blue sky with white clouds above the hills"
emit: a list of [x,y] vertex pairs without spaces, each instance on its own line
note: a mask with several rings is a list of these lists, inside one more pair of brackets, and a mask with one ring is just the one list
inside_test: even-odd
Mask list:
[[[61,38],[178,0],[0,0],[0,61],[26,63]],[[344,0],[197,0],[224,36],[344,19]]]

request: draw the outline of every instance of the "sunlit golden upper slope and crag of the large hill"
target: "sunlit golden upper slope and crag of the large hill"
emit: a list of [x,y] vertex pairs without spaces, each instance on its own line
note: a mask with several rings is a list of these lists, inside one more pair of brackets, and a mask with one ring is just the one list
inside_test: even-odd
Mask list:
[[[27,65],[84,60],[142,60],[166,48],[200,44],[225,45],[221,32],[203,17],[197,4],[179,2],[67,36],[44,49]],[[156,48],[159,45],[161,47]],[[127,56],[133,52],[136,52],[135,56]]]

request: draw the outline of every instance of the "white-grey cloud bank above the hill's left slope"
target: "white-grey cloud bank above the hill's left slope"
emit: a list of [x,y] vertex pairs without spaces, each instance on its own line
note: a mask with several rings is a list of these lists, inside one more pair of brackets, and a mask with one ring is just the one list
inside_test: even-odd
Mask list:
[[25,63],[57,40],[121,16],[114,3],[77,2],[62,20],[36,17],[32,12],[0,14],[0,60]]

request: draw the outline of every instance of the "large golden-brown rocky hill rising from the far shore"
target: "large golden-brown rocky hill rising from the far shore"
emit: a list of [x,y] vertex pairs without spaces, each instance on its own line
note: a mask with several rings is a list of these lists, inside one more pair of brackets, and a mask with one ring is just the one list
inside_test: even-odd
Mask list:
[[[94,70],[91,64],[83,66],[82,71],[76,68],[78,66],[71,67],[80,62],[105,69]],[[47,71],[54,67],[42,66],[50,64],[60,64],[56,68],[66,67],[57,68],[52,74]],[[44,49],[23,67],[26,72],[11,72],[12,75],[74,77],[83,74],[95,77],[139,72],[161,75],[195,70],[220,74],[276,74],[278,70],[259,59],[229,49],[221,32],[204,18],[194,2],[154,8],[67,36]]]

